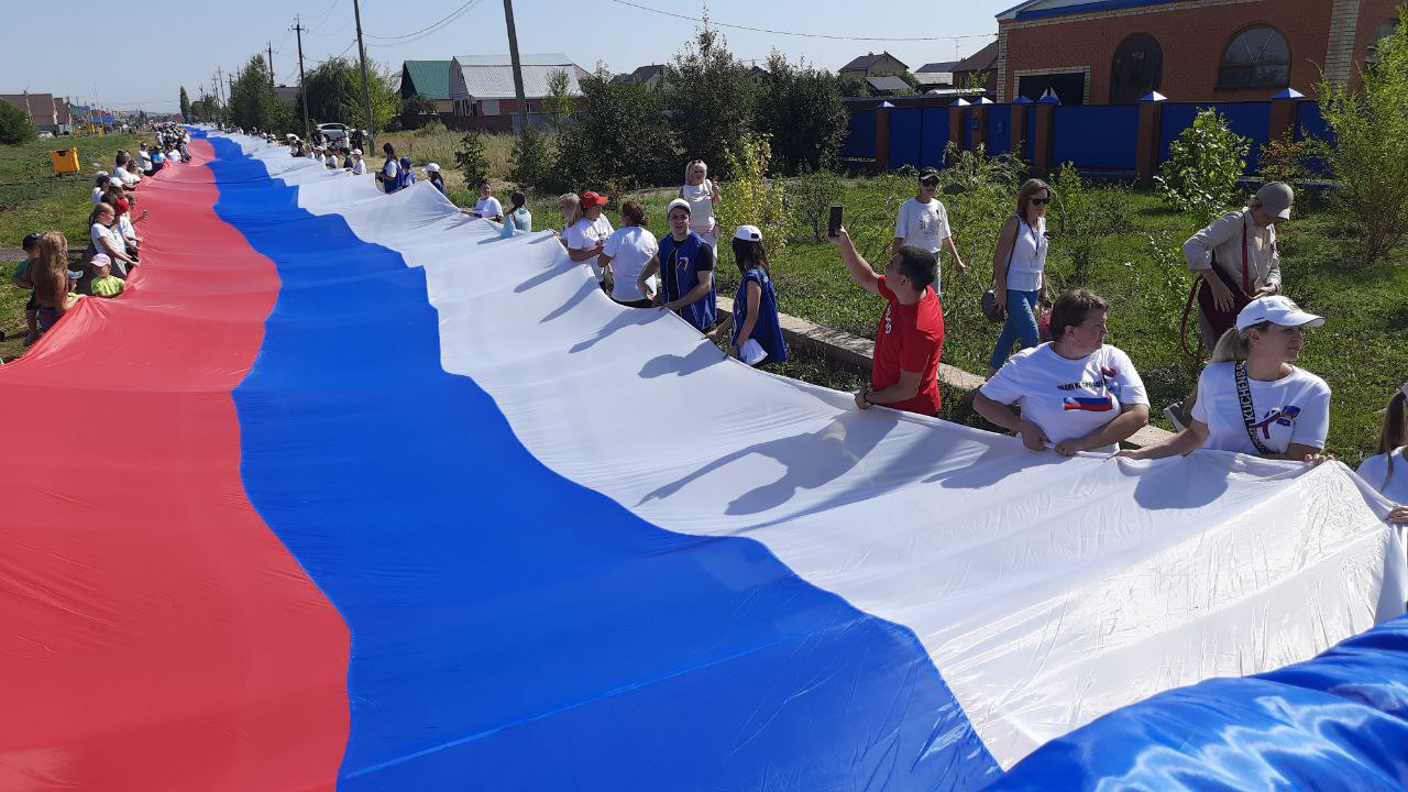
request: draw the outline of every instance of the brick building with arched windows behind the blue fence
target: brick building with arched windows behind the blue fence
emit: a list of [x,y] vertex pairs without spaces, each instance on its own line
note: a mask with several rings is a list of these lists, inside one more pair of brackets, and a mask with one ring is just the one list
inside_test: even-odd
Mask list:
[[1307,96],[1352,79],[1402,0],[1029,0],[998,21],[997,100],[1124,104]]

